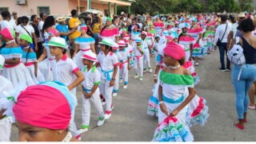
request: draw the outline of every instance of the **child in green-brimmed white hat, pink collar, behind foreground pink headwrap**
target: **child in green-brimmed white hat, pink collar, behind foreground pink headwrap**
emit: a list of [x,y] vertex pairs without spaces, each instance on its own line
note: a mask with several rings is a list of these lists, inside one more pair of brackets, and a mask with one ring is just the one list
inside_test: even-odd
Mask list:
[[[82,75],[82,72],[79,71],[77,65],[74,64],[74,61],[66,56],[66,41],[62,37],[51,37],[49,43],[46,45],[50,46],[50,54],[55,56],[55,59],[50,61],[54,80],[65,84],[71,94],[76,95],[76,87],[85,80],[85,77]],[[77,78],[74,79],[74,77]],[[70,121],[70,131],[74,137],[81,137],[74,124],[74,110],[72,111]]]

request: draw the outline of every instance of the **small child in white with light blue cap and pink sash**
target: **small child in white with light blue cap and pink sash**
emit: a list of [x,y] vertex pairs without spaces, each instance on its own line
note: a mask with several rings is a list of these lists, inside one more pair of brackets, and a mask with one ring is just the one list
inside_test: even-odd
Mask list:
[[136,47],[134,47],[134,70],[135,70],[135,76],[134,79],[138,79],[142,81],[143,80],[143,54],[144,54],[144,48],[142,45],[142,38],[138,37],[136,39]]

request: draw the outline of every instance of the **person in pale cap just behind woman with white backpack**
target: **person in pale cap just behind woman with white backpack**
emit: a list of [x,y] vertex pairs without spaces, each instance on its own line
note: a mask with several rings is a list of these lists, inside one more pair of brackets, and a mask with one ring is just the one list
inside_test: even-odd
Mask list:
[[230,29],[230,33],[227,37],[227,46],[230,46],[230,41],[234,38],[234,37],[241,37],[242,34],[240,31],[238,31],[238,25],[241,23],[242,20],[244,20],[246,18],[246,14],[241,12],[238,14],[238,21],[236,23],[234,23]]

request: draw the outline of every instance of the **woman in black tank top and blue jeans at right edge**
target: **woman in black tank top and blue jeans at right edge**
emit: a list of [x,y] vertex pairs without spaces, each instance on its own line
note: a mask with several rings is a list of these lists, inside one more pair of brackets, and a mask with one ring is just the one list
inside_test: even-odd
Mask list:
[[[242,46],[243,54],[246,58],[246,64],[234,64],[232,71],[232,81],[235,91],[235,103],[238,113],[238,122],[234,126],[243,129],[243,123],[246,123],[246,113],[248,106],[248,91],[256,80],[256,37],[251,32],[254,31],[254,22],[251,18],[243,20],[239,28],[242,37],[239,38],[239,45]],[[236,39],[232,41],[232,45],[236,44]]]

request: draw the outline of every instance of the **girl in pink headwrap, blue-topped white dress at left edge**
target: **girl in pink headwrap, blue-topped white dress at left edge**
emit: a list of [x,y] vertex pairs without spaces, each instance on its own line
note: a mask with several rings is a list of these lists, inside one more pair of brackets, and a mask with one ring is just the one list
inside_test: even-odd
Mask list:
[[22,64],[23,52],[16,45],[14,35],[8,28],[2,29],[0,34],[2,35],[1,40],[6,43],[6,46],[0,50],[0,54],[5,58],[2,76],[10,80],[14,84],[14,88],[18,87],[19,83],[24,83],[26,87],[34,85],[34,80],[31,78],[30,72]]

